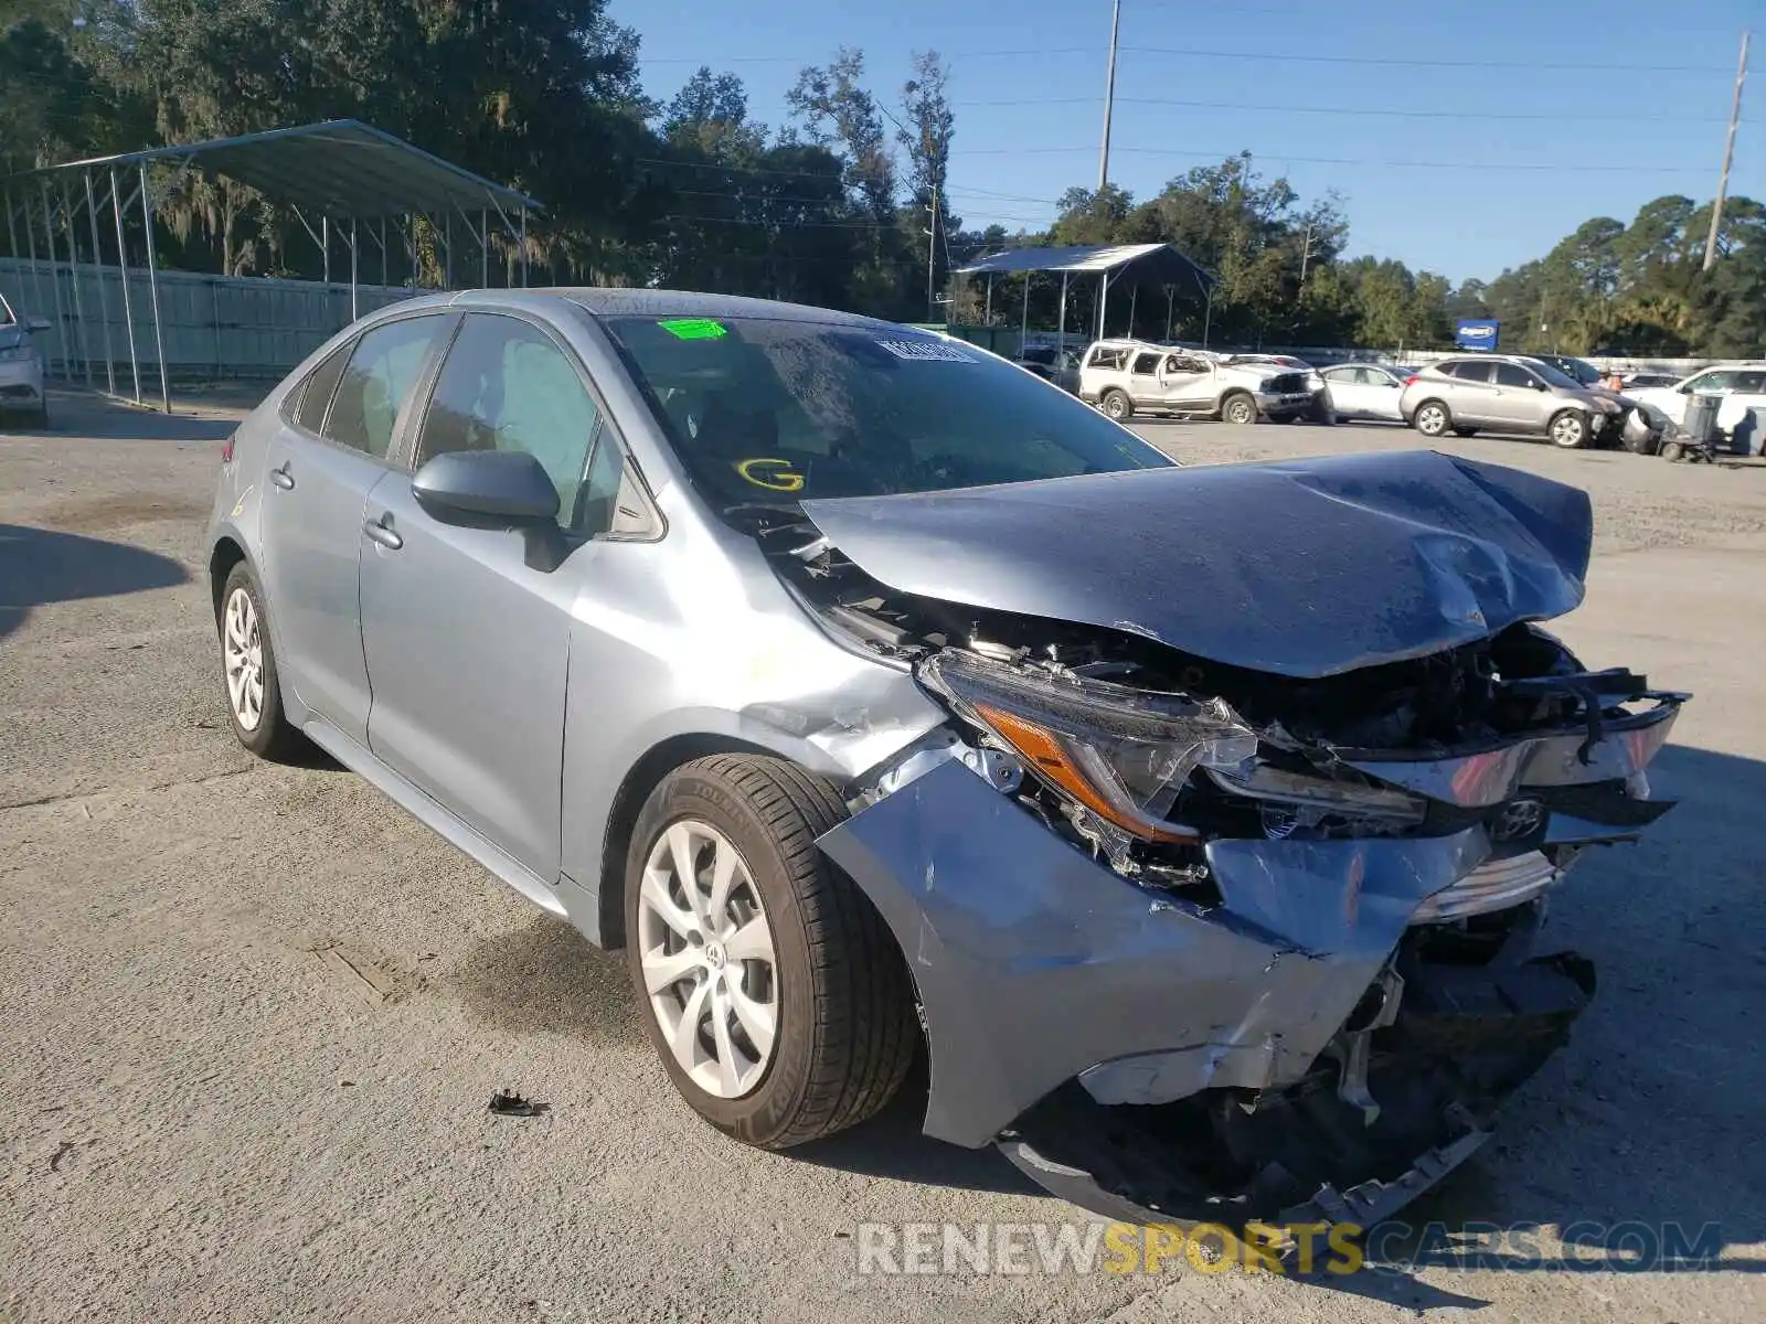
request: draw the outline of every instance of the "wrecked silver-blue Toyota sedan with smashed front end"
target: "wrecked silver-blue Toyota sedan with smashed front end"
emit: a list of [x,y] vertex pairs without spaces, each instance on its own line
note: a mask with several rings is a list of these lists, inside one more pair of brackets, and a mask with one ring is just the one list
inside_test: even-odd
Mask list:
[[1547,902],[1669,807],[1687,696],[1538,625],[1589,533],[1430,452],[1180,468],[864,318],[500,291],[272,392],[210,575],[238,738],[623,948],[728,1133],[924,1045],[925,1132],[1075,1202],[1365,1225],[1565,1042]]

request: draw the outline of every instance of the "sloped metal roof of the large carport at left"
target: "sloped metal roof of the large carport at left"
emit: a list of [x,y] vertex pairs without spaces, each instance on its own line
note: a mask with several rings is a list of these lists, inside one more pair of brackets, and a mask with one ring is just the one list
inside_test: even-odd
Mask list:
[[526,194],[493,184],[360,120],[327,120],[244,138],[154,147],[25,173],[108,169],[155,161],[226,175],[274,201],[334,217],[445,214],[454,208],[539,210],[539,203]]

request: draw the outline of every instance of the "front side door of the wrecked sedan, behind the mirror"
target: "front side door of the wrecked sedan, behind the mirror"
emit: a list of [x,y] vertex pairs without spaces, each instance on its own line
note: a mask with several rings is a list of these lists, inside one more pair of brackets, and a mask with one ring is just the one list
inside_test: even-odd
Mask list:
[[558,487],[569,554],[530,565],[530,531],[443,523],[389,477],[358,523],[374,756],[542,881],[558,874],[570,613],[613,519],[622,468],[586,376],[546,327],[472,312],[420,417],[413,468],[525,450]]

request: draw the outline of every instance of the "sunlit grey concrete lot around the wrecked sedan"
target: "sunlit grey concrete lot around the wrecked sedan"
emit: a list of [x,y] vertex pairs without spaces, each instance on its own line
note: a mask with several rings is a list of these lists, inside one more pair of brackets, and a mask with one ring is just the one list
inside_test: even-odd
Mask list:
[[[1639,847],[1554,929],[1602,992],[1506,1130],[1406,1215],[1715,1225],[1722,1271],[1293,1280],[860,1275],[858,1223],[1090,1220],[918,1137],[915,1089],[789,1155],[669,1089],[618,957],[357,777],[233,741],[201,524],[224,410],[57,399],[0,433],[0,1320],[1766,1319],[1766,473],[1476,438],[1595,496],[1591,666],[1694,690]],[[1400,429],[1153,424],[1211,463]],[[514,1087],[549,1103],[493,1117]],[[1595,1232],[1596,1241],[1600,1232]],[[1388,1243],[1397,1250],[1415,1243]],[[1452,1257],[1446,1257],[1452,1259]]]

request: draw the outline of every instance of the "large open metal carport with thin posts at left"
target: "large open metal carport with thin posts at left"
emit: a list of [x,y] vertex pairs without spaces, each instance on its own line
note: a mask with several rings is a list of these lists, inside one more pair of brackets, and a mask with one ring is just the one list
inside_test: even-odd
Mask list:
[[[274,203],[288,207],[313,242],[323,251],[327,282],[330,282],[332,221],[348,222],[348,231],[343,233],[346,233],[350,251],[351,318],[357,316],[360,272],[358,226],[362,222],[369,222],[366,226],[367,238],[380,247],[381,282],[385,282],[387,219],[392,217],[397,226],[399,217],[404,217],[399,238],[413,252],[413,219],[417,215],[442,219],[436,237],[445,254],[443,282],[447,288],[452,288],[454,219],[459,217],[466,233],[479,242],[480,284],[489,284],[489,235],[491,215],[494,214],[509,238],[519,249],[521,284],[528,282],[528,212],[540,210],[537,201],[502,184],[480,178],[461,166],[411,147],[403,138],[394,138],[360,120],[327,120],[325,124],[272,129],[242,138],[155,147],[111,157],[67,161],[57,166],[9,175],[5,180],[0,180],[0,191],[4,191],[5,199],[7,238],[12,256],[28,256],[32,279],[37,281],[37,228],[41,224],[42,238],[48,245],[51,293],[58,325],[65,325],[65,321],[60,284],[53,275],[58,263],[57,231],[60,229],[64,235],[69,265],[76,267],[79,263],[81,238],[74,222],[85,212],[92,265],[102,270],[104,256],[99,242],[101,214],[108,212],[104,221],[115,224],[117,261],[124,275],[122,298],[124,327],[127,328],[129,341],[129,369],[134,378],[134,399],[138,404],[141,402],[141,364],[134,342],[134,312],[129,307],[129,249],[124,231],[124,215],[136,203],[141,208],[141,224],[147,238],[147,274],[154,305],[154,348],[159,360],[161,404],[168,413],[171,410],[171,387],[166,376],[166,350],[159,314],[159,274],[154,261],[150,166],[171,168],[177,175],[194,169],[210,177],[224,177],[235,184],[256,189]],[[134,180],[129,178],[131,171],[134,173]],[[97,178],[97,187],[94,187],[94,178]],[[34,192],[39,196],[34,198]],[[477,215],[477,224],[473,222],[473,215]],[[378,222],[378,235],[373,222]],[[19,224],[25,229],[23,247],[19,245]],[[102,297],[102,284],[99,286],[99,293]],[[79,298],[78,281],[72,286],[72,295],[76,300]],[[42,300],[41,288],[37,297]],[[74,309],[74,318],[83,321],[78,307]],[[117,394],[108,309],[101,312],[101,321],[104,327],[106,381],[109,392]],[[85,360],[85,371],[87,385],[92,385],[90,355]]]

